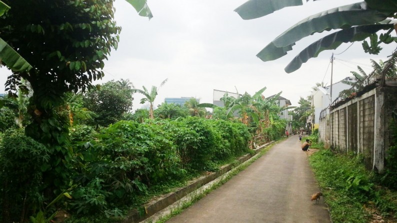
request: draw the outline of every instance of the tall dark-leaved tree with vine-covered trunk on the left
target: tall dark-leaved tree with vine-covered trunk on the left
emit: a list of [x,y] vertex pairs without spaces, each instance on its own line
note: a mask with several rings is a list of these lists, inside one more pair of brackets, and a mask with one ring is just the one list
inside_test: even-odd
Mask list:
[[[3,0],[10,6],[0,17],[1,43],[28,61],[30,69],[14,69],[6,90],[14,94],[32,89],[27,112],[31,122],[27,136],[43,143],[50,155],[42,167],[41,189],[47,199],[68,184],[72,153],[67,116],[62,116],[64,94],[85,90],[103,76],[101,70],[111,49],[117,47],[118,27],[113,19],[113,0]],[[4,45],[4,44],[2,44]],[[7,56],[0,48],[1,58]],[[1,60],[5,61],[5,60]],[[24,88],[26,89],[26,88]]]

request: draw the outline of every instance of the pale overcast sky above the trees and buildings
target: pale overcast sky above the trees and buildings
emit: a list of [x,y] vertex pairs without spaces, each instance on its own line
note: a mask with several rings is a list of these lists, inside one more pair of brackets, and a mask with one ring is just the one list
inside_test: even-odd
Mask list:
[[[284,67],[301,49],[328,32],[298,41],[292,51],[275,61],[262,62],[255,55],[299,20],[358,0],[309,1],[252,20],[243,20],[233,11],[244,2],[148,0],[154,16],[148,20],[138,16],[125,0],[116,0],[115,19],[122,27],[120,42],[105,61],[104,78],[94,84],[123,78],[141,89],[142,85],[158,86],[168,78],[158,91],[155,105],[161,104],[165,97],[196,97],[200,103],[212,103],[213,89],[230,92],[237,89],[238,93],[253,94],[265,86],[264,96],[282,91],[281,96],[289,99],[292,106],[297,106],[300,96],[309,95],[316,82],[330,84],[331,53],[342,52],[350,43],[321,52],[293,73],[284,72]],[[395,44],[383,45],[379,55],[369,55],[363,52],[360,42],[354,43],[335,55],[333,82],[351,76],[350,71],[356,70],[357,65],[370,72],[369,59],[385,60],[394,48]],[[8,75],[6,69],[0,69],[1,86]],[[133,110],[141,107],[141,97],[134,95]]]

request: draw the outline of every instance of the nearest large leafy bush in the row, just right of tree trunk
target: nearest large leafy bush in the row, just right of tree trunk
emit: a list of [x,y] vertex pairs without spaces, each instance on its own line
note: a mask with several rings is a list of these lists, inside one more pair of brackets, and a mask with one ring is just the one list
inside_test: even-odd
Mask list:
[[[151,184],[181,175],[180,161],[172,142],[158,126],[119,121],[104,129],[98,142],[76,149],[73,190],[77,211],[105,210],[108,204],[123,205]],[[94,182],[94,183],[93,183]],[[92,186],[95,185],[95,188]],[[98,198],[96,202],[92,202]]]

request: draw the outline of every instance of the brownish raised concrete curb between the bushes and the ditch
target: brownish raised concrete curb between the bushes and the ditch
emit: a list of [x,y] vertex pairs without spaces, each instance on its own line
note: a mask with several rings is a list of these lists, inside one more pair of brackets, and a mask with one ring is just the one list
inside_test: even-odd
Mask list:
[[[253,149],[255,154],[246,154],[237,159],[237,165],[240,165],[241,163],[247,161],[257,153],[259,153],[261,150],[263,150],[266,146],[270,145],[275,141],[271,141],[269,143],[266,143],[264,145],[261,145],[259,147],[256,147]],[[231,169],[233,169],[236,166],[236,164],[227,164],[224,165],[223,167],[220,168],[219,171],[211,173],[207,176],[201,176],[197,179],[194,179],[187,183],[187,185],[183,188],[178,188],[176,191],[168,193],[166,195],[161,196],[160,198],[154,199],[147,204],[145,204],[144,210],[145,214],[140,216],[139,212],[137,210],[131,210],[128,212],[126,219],[123,221],[123,223],[139,223],[141,221],[144,221],[145,219],[149,218],[150,216],[156,214],[157,212],[165,209],[166,207],[172,205],[176,201],[180,200],[187,194],[197,190],[198,188],[202,187],[203,185],[213,181],[214,179],[218,178],[219,176],[227,173]]]

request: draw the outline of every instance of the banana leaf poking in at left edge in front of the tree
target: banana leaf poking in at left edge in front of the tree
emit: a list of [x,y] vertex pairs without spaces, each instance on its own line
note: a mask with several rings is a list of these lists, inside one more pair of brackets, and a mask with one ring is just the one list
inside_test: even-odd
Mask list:
[[16,72],[29,71],[32,66],[0,38],[0,62]]

